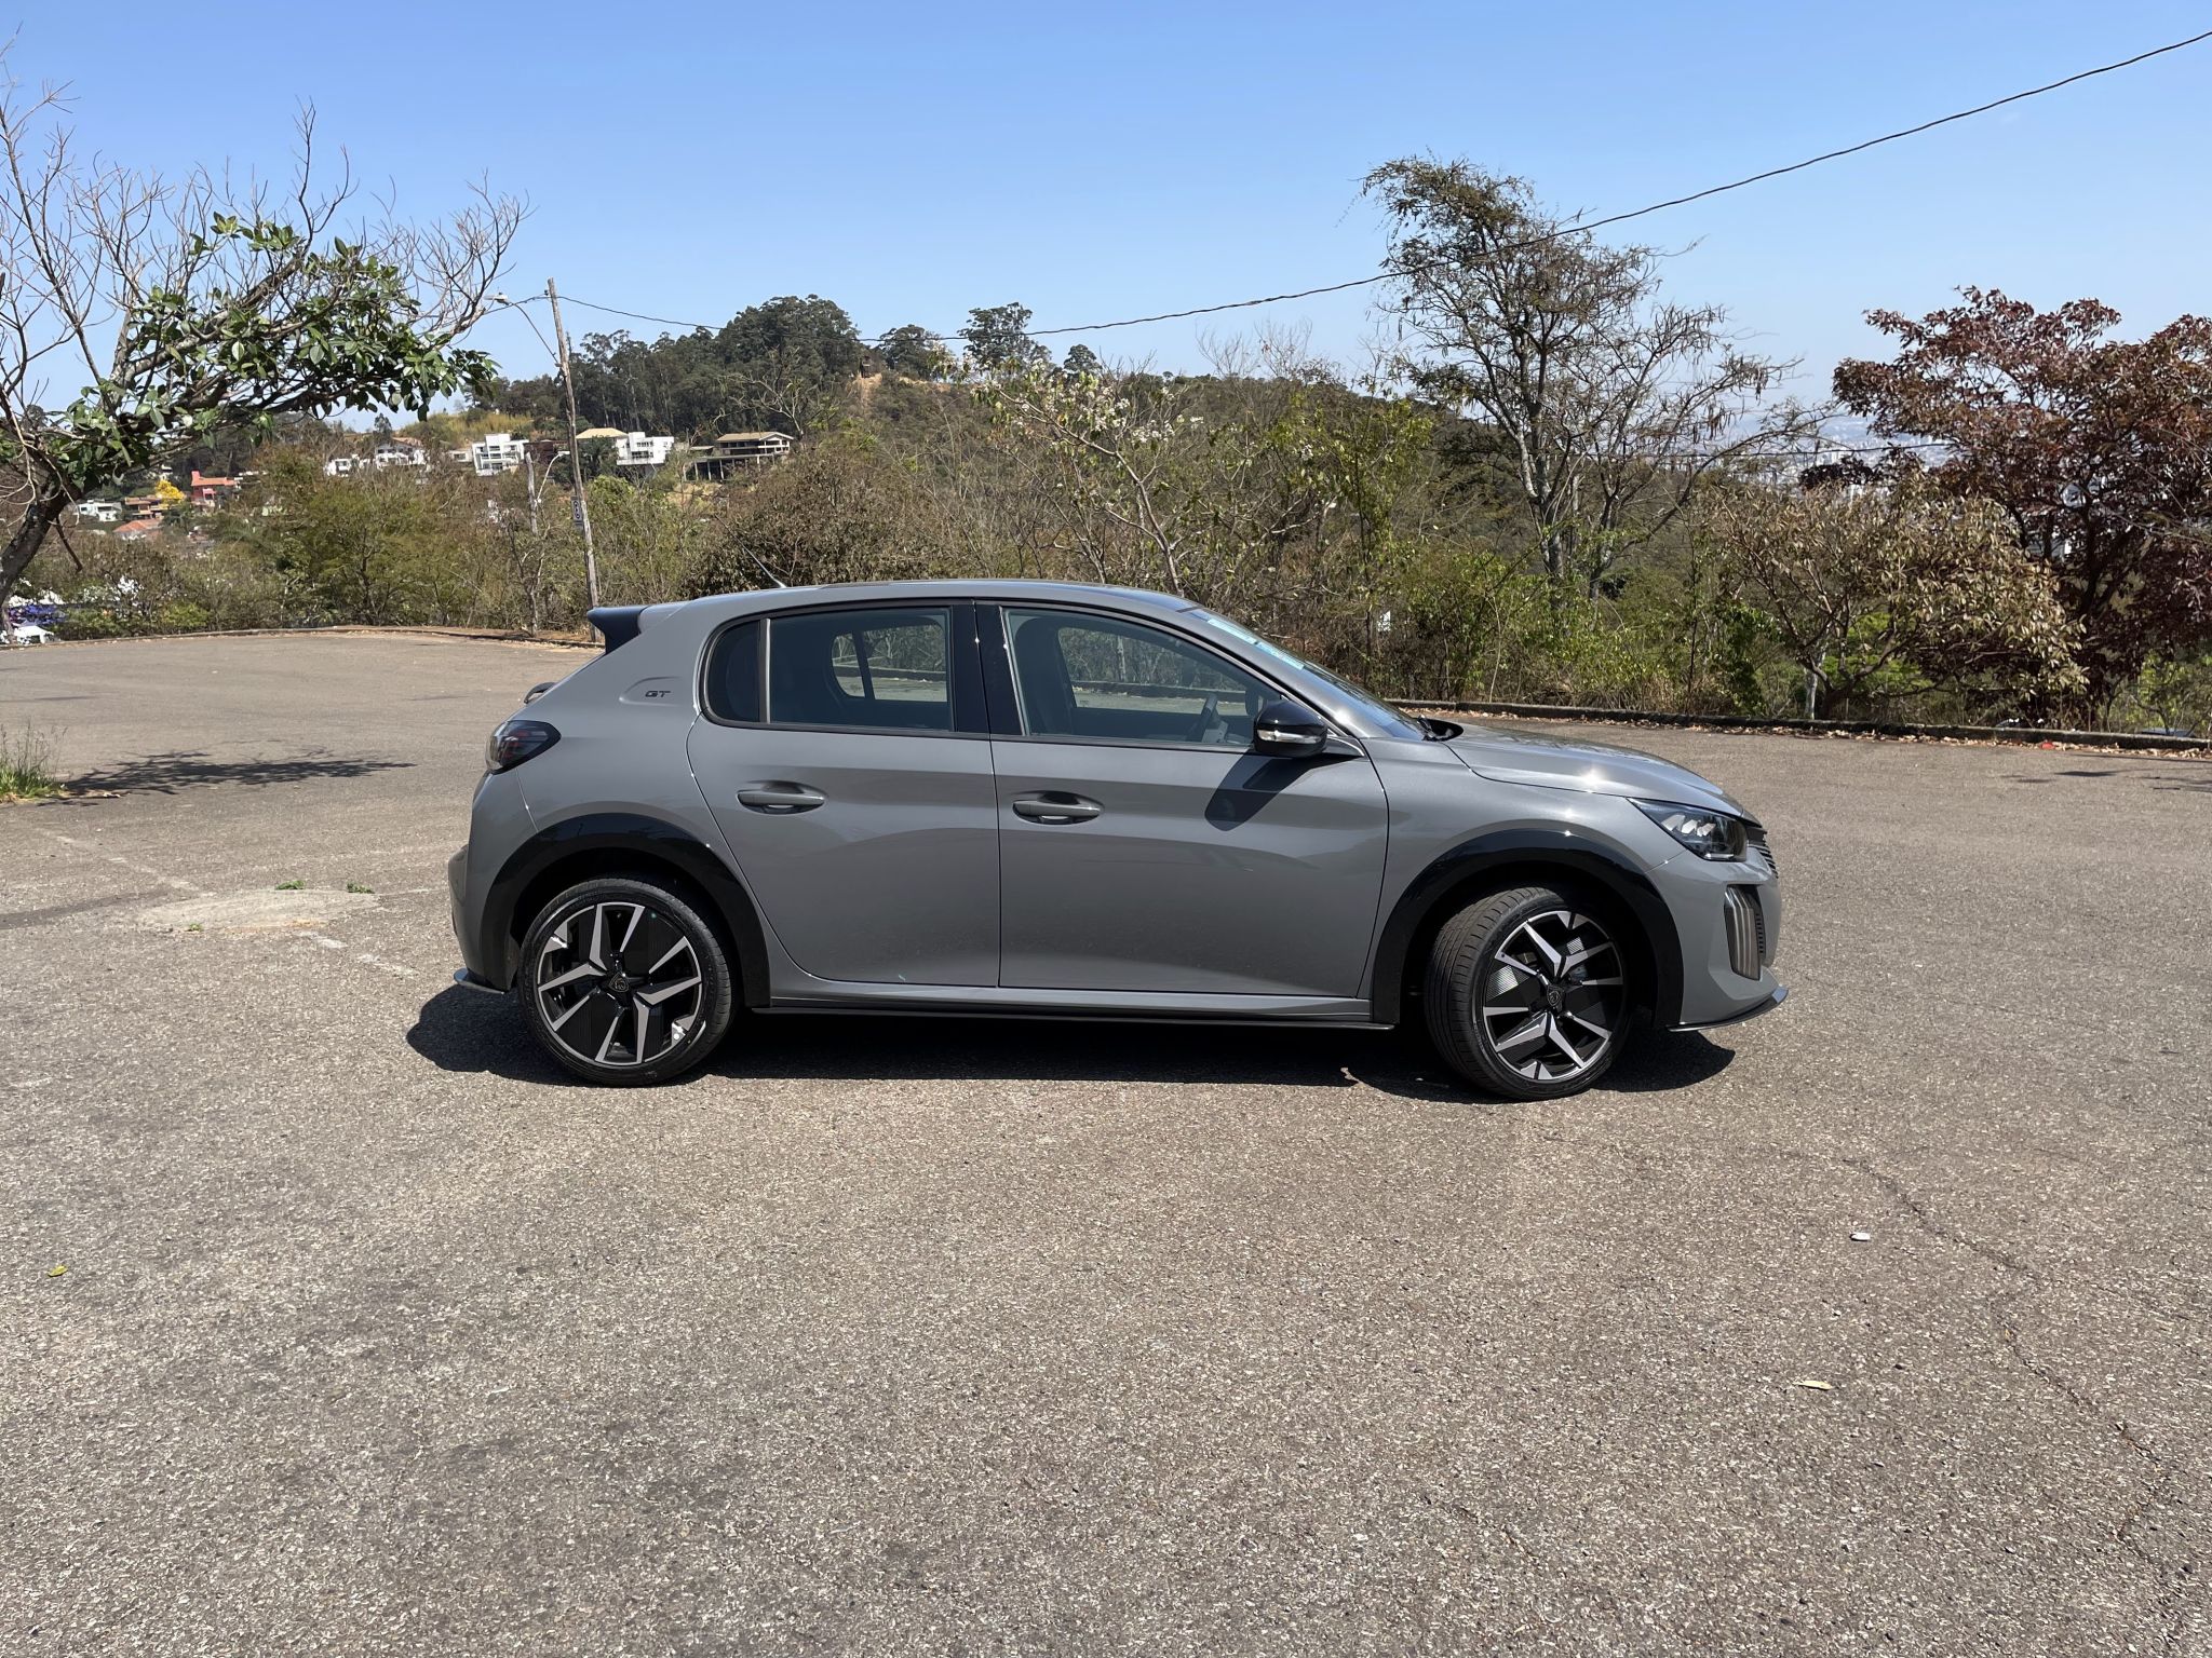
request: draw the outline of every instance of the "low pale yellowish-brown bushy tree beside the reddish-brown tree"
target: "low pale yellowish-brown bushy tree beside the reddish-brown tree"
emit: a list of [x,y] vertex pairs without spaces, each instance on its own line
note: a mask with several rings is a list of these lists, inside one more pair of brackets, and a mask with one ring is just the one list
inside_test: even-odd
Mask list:
[[2048,705],[2079,688],[2077,628],[2004,515],[1922,478],[1705,493],[1701,531],[1825,703],[1933,688]]

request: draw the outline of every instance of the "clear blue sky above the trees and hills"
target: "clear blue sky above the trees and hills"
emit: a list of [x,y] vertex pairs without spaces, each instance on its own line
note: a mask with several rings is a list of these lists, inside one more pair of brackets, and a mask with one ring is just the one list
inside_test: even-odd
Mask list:
[[[327,15],[327,22],[321,18]],[[1420,150],[1593,214],[1849,144],[2212,24],[2203,4],[175,7],[44,4],[13,71],[66,80],[115,157],[283,164],[325,141],[431,212],[489,170],[535,212],[509,292],[721,321],[787,292],[863,332],[1040,325],[1374,270],[1358,179]],[[1980,283],[2212,309],[2212,42],[1871,155],[1659,214],[1683,298],[1825,387],[1871,305]],[[1360,294],[1245,312],[1352,356]],[[575,312],[571,329],[617,325]],[[1203,323],[1095,336],[1188,367]],[[639,327],[650,334],[655,329]],[[513,318],[482,340],[544,354]],[[1064,347],[1068,340],[1060,340]]]

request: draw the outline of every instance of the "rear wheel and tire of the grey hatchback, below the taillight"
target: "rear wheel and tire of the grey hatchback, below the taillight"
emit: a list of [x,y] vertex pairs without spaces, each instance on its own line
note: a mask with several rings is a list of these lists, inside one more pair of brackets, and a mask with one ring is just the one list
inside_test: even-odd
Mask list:
[[522,1017],[591,1083],[666,1083],[730,1028],[737,990],[721,933],[672,886],[606,875],[571,886],[522,940]]

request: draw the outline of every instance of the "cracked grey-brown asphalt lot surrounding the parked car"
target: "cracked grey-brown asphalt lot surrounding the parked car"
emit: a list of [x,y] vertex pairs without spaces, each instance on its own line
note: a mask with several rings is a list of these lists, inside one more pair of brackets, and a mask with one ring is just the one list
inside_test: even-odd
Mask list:
[[1575,1101],[891,1019],[599,1092],[447,988],[573,663],[0,654],[108,791],[0,807],[0,1651],[2212,1654],[2212,765],[1597,732],[1767,818],[1792,999]]

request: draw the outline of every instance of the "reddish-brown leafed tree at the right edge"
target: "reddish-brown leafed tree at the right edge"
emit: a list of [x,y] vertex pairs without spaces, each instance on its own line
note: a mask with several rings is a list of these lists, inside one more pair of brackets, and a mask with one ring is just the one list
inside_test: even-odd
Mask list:
[[2119,312],[1993,290],[1911,321],[1869,312],[1893,363],[1836,367],[1836,398],[1889,438],[1944,444],[1936,482],[2004,508],[2081,621],[2088,699],[2150,650],[2212,641],[2212,321],[2115,340]]

